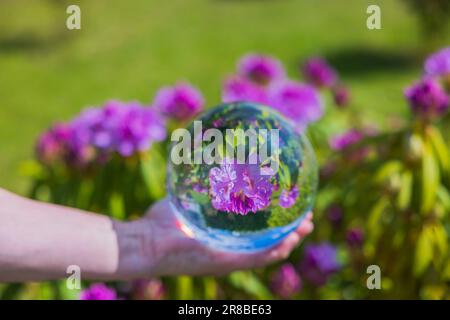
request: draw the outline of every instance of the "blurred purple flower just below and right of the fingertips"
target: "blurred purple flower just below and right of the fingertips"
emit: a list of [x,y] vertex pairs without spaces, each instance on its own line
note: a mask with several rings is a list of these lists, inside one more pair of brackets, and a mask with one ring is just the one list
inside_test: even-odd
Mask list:
[[305,247],[300,273],[314,285],[324,285],[340,268],[336,247],[330,243],[309,244]]

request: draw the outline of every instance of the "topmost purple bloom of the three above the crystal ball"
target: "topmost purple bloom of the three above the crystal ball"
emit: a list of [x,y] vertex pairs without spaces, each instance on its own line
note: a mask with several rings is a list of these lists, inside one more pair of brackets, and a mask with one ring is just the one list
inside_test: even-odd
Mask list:
[[285,77],[283,65],[279,60],[259,54],[244,56],[238,63],[238,74],[260,85]]

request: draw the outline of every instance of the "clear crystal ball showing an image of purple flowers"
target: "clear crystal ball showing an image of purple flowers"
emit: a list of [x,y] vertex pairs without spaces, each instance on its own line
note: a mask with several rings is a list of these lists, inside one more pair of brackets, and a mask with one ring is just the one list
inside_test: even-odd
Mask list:
[[168,194],[181,228],[222,250],[279,243],[311,211],[318,183],[302,132],[270,107],[222,104],[171,137]]

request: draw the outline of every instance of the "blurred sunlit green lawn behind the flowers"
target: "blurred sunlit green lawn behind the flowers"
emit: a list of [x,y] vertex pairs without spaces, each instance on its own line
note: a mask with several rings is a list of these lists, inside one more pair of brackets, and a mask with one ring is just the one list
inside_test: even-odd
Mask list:
[[[20,164],[52,122],[110,98],[150,102],[177,80],[215,105],[249,51],[279,57],[293,77],[301,59],[327,57],[374,120],[407,110],[402,89],[421,69],[418,27],[400,0],[66,1],[81,6],[80,31],[65,28],[62,2],[0,2],[0,186],[21,193]],[[369,31],[374,2],[382,30]]]

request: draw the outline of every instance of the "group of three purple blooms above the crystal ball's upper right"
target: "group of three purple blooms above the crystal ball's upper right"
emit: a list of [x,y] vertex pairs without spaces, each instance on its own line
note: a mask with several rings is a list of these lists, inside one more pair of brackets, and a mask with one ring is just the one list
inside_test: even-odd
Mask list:
[[238,63],[237,75],[225,80],[223,102],[249,101],[273,107],[299,131],[323,115],[323,104],[313,86],[289,80],[280,61],[250,54]]

